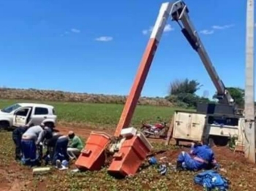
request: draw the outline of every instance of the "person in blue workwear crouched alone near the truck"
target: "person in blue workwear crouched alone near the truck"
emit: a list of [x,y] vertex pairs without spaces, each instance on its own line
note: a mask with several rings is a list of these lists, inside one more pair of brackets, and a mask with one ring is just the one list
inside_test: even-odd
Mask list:
[[190,153],[183,151],[178,155],[178,170],[200,171],[212,167],[219,168],[219,165],[215,160],[213,150],[204,141],[192,142]]

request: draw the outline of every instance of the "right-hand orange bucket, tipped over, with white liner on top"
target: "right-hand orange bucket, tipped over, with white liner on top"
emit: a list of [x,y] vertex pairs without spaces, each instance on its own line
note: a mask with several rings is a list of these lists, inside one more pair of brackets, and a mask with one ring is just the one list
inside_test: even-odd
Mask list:
[[143,133],[128,137],[121,144],[119,151],[113,155],[108,173],[113,176],[136,174],[151,149],[152,146]]

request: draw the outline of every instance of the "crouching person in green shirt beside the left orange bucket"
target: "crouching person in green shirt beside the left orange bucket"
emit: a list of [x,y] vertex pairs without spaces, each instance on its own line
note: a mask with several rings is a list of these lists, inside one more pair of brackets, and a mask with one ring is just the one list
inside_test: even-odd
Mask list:
[[83,149],[83,142],[72,130],[69,131],[68,136],[70,139],[70,144],[67,147],[67,154],[71,160],[75,160]]

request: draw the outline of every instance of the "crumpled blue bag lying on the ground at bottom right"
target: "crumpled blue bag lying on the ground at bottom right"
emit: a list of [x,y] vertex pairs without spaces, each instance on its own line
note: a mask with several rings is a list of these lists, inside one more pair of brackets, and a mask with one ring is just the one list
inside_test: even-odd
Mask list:
[[217,171],[209,170],[197,174],[194,178],[195,184],[203,186],[206,190],[228,190],[228,181]]

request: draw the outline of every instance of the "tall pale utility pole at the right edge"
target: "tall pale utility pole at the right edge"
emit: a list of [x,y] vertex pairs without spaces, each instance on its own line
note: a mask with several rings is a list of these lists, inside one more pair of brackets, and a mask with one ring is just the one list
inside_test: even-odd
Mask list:
[[245,82],[245,142],[244,155],[255,163],[255,86],[254,86],[254,26],[255,3],[247,0],[246,7],[246,82]]

